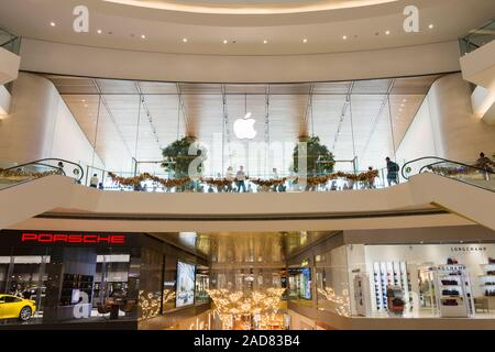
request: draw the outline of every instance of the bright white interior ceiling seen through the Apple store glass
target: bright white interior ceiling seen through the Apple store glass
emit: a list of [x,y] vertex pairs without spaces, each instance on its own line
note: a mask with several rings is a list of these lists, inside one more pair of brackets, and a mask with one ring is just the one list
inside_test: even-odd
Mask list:
[[[397,147],[438,78],[222,85],[47,77],[96,145],[107,169],[131,172],[132,157],[160,161],[162,147],[187,134],[211,148],[220,145],[209,157],[211,175],[224,172],[228,165],[242,164],[252,175],[261,176],[272,167],[286,173],[294,143],[298,136],[311,134],[320,136],[337,160],[356,155],[362,169],[383,167],[384,157],[393,155],[394,142]],[[273,148],[282,145],[287,148],[283,156],[268,155],[262,144],[258,154],[238,158],[221,147],[229,140],[239,142],[232,125],[246,111],[256,119],[254,141],[270,142]],[[343,163],[338,168],[350,166]],[[141,170],[160,172],[160,167],[142,165]]]

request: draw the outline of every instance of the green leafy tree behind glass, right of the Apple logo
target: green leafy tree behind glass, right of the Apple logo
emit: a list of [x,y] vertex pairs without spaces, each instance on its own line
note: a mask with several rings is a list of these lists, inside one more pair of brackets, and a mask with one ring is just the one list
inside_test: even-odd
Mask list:
[[[321,144],[319,136],[310,136],[306,141],[307,147],[307,170],[308,177],[326,175],[333,173],[333,154],[327,145]],[[299,144],[296,145],[293,153],[294,172],[299,172]]]

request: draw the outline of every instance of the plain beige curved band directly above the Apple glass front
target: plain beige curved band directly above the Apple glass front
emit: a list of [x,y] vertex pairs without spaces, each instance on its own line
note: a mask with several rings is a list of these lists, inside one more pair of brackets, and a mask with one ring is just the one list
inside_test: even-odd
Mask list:
[[135,52],[24,38],[21,69],[101,78],[266,84],[458,72],[459,56],[457,42],[334,54],[228,56]]

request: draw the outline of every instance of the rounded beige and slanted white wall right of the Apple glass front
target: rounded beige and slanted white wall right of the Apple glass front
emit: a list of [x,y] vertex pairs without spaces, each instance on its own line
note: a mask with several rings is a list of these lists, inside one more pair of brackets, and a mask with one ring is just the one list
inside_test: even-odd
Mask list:
[[402,163],[421,156],[474,163],[482,151],[495,153],[495,127],[472,113],[470,85],[453,74],[433,82],[396,154]]

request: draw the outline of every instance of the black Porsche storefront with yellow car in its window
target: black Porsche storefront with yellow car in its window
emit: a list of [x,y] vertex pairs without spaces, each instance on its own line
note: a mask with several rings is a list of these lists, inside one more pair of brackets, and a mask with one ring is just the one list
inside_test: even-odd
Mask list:
[[[136,323],[142,234],[1,231],[0,327]],[[155,244],[156,245],[156,244]]]

